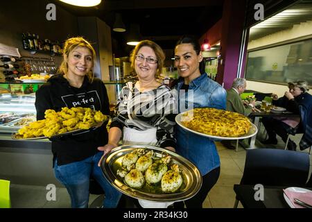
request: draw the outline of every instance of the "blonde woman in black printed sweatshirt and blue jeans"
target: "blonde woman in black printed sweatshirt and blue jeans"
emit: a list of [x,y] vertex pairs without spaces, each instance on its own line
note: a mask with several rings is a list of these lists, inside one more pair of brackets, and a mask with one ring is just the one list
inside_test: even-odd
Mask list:
[[[48,109],[84,107],[109,114],[109,101],[103,82],[94,78],[95,51],[83,37],[64,43],[59,73],[36,92],[37,119],[44,119]],[[56,178],[67,188],[71,207],[88,207],[89,179],[92,176],[105,191],[103,207],[116,207],[121,193],[105,179],[97,166],[103,152],[97,147],[107,144],[106,126],[79,135],[52,140],[53,168]]]

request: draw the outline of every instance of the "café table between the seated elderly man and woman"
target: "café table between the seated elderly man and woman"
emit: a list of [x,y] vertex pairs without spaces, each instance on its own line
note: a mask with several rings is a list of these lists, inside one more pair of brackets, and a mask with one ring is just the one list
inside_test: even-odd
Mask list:
[[[299,114],[294,114],[293,112],[289,111],[284,111],[284,112],[266,112],[266,111],[261,111],[261,112],[252,112],[248,116],[254,125],[259,127],[259,121],[261,117],[300,117]],[[249,147],[244,147],[244,148],[256,148],[255,142],[256,142],[256,137],[257,135],[254,135],[253,137],[250,138],[250,146]]]

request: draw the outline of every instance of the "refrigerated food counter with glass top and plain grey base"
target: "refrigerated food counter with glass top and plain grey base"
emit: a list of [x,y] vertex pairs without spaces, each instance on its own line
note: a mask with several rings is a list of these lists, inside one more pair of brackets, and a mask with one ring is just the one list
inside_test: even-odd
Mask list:
[[15,124],[23,118],[35,120],[35,91],[42,84],[0,83],[0,178],[15,185],[62,187],[53,173],[49,139],[11,138],[21,128]]

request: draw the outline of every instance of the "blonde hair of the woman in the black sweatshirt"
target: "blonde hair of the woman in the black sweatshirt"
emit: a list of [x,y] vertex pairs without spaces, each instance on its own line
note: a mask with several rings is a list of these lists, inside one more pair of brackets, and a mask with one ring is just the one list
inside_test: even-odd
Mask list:
[[62,60],[62,64],[58,68],[58,72],[60,72],[61,74],[65,74],[65,75],[67,74],[68,64],[65,58],[68,58],[69,53],[73,51],[73,49],[76,49],[76,47],[86,47],[87,49],[89,49],[89,51],[92,54],[92,69],[91,71],[87,73],[87,78],[89,82],[92,83],[94,80],[93,67],[94,67],[94,60],[96,60],[96,52],[93,46],[83,37],[71,37],[65,41],[64,47],[63,47],[63,60]]

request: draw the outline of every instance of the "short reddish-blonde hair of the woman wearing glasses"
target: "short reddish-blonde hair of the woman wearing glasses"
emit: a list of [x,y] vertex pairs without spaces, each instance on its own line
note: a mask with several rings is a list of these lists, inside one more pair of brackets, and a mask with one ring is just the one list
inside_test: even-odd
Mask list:
[[133,70],[135,70],[135,56],[137,56],[137,52],[139,49],[141,49],[143,46],[148,46],[155,52],[156,59],[157,59],[157,71],[155,74],[155,78],[158,78],[159,75],[162,73],[162,67],[164,66],[164,60],[166,58],[164,51],[162,51],[162,48],[156,44],[153,41],[150,40],[143,40],[135,46],[135,49],[133,49],[131,55],[130,55],[130,61],[131,61],[131,67]]

